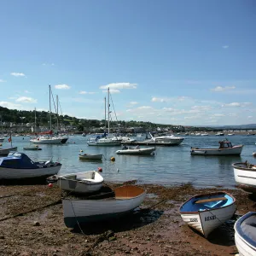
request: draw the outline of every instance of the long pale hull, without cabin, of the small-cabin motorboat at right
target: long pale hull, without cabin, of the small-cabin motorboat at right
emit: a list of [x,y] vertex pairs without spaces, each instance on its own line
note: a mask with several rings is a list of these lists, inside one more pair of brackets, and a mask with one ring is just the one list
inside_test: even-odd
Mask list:
[[240,155],[243,145],[233,148],[191,148],[190,153],[195,155]]

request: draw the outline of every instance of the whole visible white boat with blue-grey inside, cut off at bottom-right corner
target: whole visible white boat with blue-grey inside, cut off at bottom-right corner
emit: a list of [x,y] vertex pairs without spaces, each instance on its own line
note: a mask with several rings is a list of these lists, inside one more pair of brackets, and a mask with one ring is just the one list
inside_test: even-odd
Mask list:
[[256,212],[247,212],[239,218],[234,229],[239,256],[256,255]]

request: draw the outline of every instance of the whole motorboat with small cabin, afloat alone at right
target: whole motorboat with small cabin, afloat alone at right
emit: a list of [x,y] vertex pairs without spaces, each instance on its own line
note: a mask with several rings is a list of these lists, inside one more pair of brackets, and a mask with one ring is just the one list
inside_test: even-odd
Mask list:
[[194,148],[191,147],[191,154],[199,154],[199,155],[228,155],[228,154],[236,154],[240,155],[243,145],[233,146],[228,140],[220,141],[218,148]]

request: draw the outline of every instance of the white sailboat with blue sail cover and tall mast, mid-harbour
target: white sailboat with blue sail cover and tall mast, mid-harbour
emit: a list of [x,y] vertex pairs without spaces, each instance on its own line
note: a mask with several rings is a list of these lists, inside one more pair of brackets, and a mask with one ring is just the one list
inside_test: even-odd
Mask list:
[[[109,88],[108,88],[108,136],[110,132],[109,127]],[[105,98],[105,127],[106,127],[106,98]],[[90,140],[87,142],[88,146],[119,146],[122,143],[121,140],[119,140],[117,137],[107,137],[106,132],[104,132],[104,135],[102,137],[96,137],[96,138],[90,138]]]

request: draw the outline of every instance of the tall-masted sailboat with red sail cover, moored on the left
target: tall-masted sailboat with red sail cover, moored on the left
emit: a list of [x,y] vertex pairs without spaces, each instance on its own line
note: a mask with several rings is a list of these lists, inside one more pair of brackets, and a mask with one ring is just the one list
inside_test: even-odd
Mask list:
[[51,96],[51,90],[50,90],[50,85],[49,85],[49,131],[44,132],[44,135],[48,134],[48,136],[40,136],[40,137],[33,138],[30,140],[32,143],[37,143],[37,144],[61,144],[62,143],[62,137],[53,137],[52,136],[53,132],[52,132],[52,127],[51,127],[50,96]]

